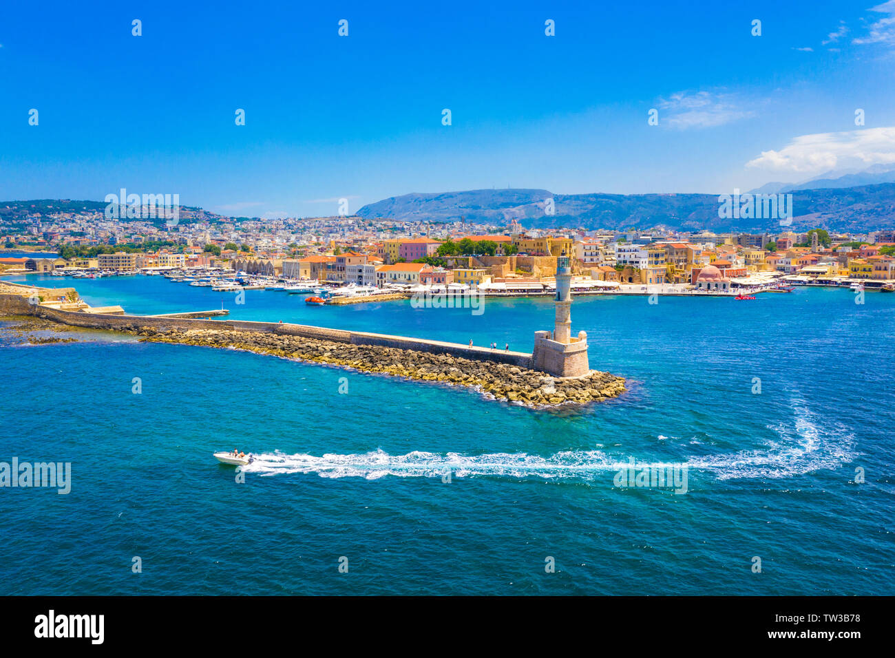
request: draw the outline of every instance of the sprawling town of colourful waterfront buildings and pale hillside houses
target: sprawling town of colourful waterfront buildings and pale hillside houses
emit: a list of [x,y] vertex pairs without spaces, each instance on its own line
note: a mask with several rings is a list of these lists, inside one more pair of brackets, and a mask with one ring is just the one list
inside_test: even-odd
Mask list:
[[[360,217],[242,219],[183,212],[173,225],[99,211],[35,212],[0,226],[4,274],[175,276],[215,270],[271,281],[376,290],[454,286],[552,292],[557,258],[576,292],[733,294],[783,285],[895,286],[895,231],[746,234],[526,229]],[[781,227],[786,228],[786,227]],[[22,252],[52,252],[34,258]],[[231,283],[233,283],[231,281]],[[242,281],[243,286],[245,281]],[[233,283],[237,287],[237,283]]]

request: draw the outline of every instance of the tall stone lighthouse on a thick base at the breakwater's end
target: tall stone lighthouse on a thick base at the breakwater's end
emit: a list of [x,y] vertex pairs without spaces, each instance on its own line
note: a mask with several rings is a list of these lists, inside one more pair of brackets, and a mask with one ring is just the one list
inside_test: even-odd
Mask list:
[[572,266],[563,250],[557,258],[556,320],[553,331],[534,332],[532,366],[556,377],[582,377],[591,372],[587,334],[572,337]]

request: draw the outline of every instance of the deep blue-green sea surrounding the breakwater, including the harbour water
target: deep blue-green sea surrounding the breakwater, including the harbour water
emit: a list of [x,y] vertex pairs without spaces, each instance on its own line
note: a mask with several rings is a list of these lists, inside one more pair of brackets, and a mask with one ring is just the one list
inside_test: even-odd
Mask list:
[[[553,311],[27,280],[525,351]],[[592,367],[630,391],[577,411],[126,336],[0,338],[0,461],[72,464],[67,495],[0,489],[0,594],[895,594],[895,295],[855,300],[579,297]],[[244,483],[211,457],[234,448],[260,455]],[[686,493],[615,486],[630,457],[686,466]]]

